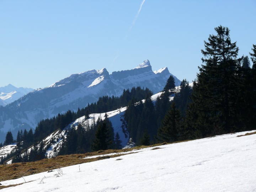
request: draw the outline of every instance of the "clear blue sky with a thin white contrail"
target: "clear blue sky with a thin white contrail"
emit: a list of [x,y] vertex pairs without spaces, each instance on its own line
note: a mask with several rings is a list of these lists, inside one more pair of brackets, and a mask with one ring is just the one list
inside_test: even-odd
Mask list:
[[214,27],[229,27],[239,56],[249,55],[255,13],[256,0],[1,0],[0,87],[43,88],[146,59],[153,70],[167,66],[191,82]]

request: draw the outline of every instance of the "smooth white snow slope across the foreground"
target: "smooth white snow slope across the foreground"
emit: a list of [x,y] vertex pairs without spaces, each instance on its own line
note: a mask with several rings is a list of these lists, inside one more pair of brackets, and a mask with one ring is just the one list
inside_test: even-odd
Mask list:
[[[256,191],[256,134],[236,137],[245,133],[64,167],[59,177],[56,170],[26,176],[27,183],[2,191]],[[24,179],[1,184],[23,183]]]

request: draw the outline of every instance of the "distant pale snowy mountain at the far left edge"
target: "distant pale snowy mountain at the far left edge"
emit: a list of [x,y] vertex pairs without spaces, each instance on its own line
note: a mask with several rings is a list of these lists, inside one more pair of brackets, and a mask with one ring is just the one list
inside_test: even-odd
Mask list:
[[27,87],[17,88],[11,84],[0,87],[0,105],[6,106],[7,104],[14,102],[18,98],[21,98],[23,95],[26,95],[33,90],[34,89]]

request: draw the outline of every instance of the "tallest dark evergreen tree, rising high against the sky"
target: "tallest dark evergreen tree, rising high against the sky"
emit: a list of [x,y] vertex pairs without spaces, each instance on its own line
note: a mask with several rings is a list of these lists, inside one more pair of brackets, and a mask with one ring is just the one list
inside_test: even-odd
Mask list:
[[[197,129],[202,137],[229,133],[241,127],[238,118],[239,97],[236,89],[241,86],[238,47],[231,43],[229,29],[216,27],[217,35],[204,41],[204,58],[197,79],[193,82],[192,100],[197,114]],[[192,113],[190,113],[192,114]]]

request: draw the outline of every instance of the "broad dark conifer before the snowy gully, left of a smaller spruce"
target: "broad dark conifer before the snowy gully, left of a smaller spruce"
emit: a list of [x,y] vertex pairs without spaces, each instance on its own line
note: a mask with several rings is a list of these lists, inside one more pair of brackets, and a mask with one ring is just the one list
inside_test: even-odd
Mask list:
[[113,140],[111,138],[110,129],[106,122],[100,122],[95,133],[95,139],[91,144],[94,151],[107,150],[112,147]]

